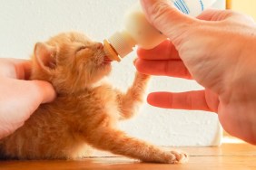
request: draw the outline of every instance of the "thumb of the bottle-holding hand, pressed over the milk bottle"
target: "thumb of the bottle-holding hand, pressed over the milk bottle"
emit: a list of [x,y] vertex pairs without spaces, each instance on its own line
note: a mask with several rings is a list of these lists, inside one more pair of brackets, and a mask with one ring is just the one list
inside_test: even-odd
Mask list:
[[173,42],[197,20],[182,14],[166,0],[141,0],[144,14],[151,24]]

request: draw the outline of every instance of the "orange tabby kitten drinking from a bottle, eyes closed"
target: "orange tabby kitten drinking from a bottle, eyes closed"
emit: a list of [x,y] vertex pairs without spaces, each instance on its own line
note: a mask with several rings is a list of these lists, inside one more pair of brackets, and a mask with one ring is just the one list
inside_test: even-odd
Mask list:
[[137,72],[126,93],[104,83],[111,61],[102,43],[81,33],[62,33],[36,43],[32,61],[31,80],[51,82],[58,95],[0,140],[3,158],[76,159],[89,156],[90,146],[144,162],[178,163],[186,158],[116,128],[118,120],[131,118],[142,104],[149,76]]

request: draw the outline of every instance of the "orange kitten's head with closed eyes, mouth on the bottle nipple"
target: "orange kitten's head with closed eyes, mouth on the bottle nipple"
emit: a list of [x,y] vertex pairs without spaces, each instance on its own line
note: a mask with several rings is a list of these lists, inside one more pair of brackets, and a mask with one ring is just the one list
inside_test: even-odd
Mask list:
[[33,80],[47,80],[57,93],[74,93],[92,86],[111,71],[103,44],[82,33],[61,33],[37,42],[32,58]]

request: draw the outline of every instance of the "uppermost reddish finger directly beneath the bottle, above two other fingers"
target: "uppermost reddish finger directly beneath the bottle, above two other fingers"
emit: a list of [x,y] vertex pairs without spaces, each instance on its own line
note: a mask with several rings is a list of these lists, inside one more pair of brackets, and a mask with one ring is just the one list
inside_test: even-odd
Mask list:
[[151,50],[139,48],[138,57],[145,60],[181,60],[176,48],[166,40]]

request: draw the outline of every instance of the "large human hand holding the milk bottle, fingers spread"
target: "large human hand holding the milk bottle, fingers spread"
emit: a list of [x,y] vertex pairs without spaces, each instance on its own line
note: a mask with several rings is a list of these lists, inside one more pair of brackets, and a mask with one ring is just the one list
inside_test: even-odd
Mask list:
[[138,50],[138,71],[197,80],[206,90],[156,92],[154,106],[218,113],[232,136],[256,144],[256,24],[231,11],[208,10],[198,18],[164,0],[142,0],[146,17],[170,41]]

